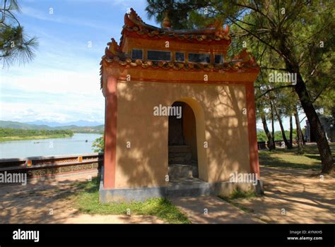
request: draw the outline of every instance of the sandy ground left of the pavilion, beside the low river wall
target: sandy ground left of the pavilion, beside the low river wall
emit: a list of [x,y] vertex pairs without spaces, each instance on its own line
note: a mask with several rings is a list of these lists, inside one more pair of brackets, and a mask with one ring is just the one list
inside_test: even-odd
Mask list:
[[66,196],[75,189],[74,179],[0,187],[0,223],[164,223],[158,217],[145,215],[81,214]]

